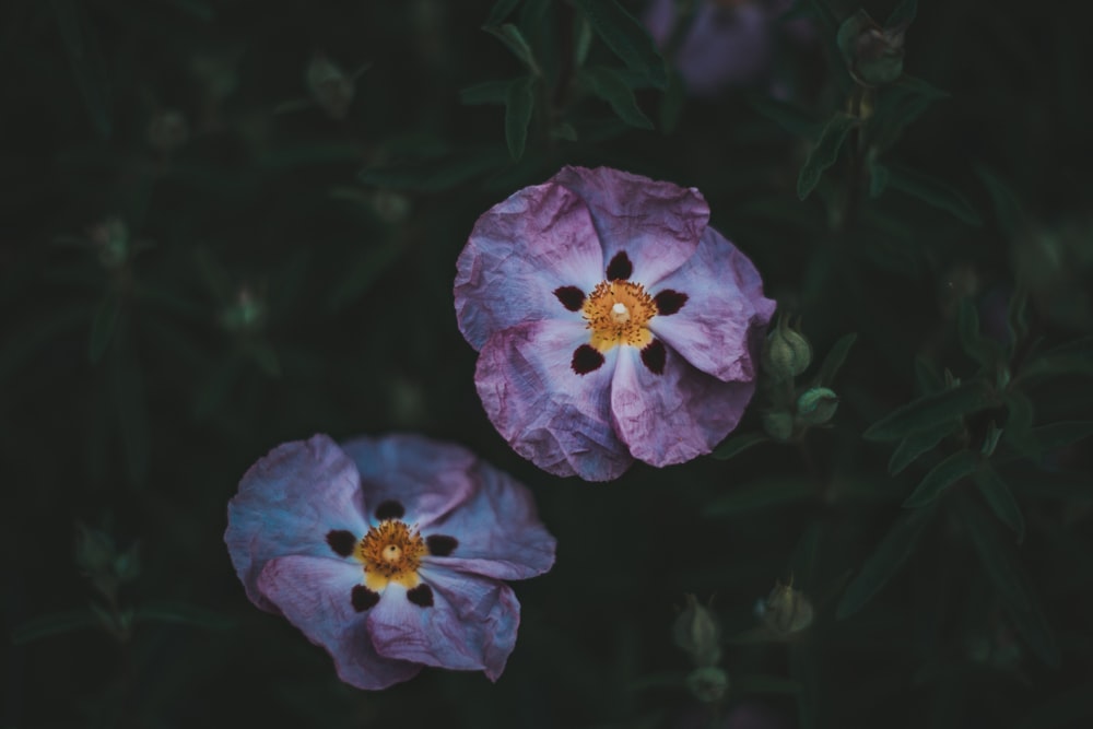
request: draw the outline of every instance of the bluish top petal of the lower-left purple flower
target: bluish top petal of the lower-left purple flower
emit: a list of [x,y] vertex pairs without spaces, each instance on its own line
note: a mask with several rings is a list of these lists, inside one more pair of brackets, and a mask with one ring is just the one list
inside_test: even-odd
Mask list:
[[371,525],[393,518],[419,529],[470,498],[478,457],[450,443],[419,435],[354,438],[342,444],[361,473]]

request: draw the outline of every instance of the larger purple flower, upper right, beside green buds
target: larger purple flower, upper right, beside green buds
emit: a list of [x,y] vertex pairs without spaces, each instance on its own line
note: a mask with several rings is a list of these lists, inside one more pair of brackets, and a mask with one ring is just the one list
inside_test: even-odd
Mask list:
[[708,454],[740,420],[774,302],[694,188],[566,167],[482,215],[456,314],[486,414],[556,475]]

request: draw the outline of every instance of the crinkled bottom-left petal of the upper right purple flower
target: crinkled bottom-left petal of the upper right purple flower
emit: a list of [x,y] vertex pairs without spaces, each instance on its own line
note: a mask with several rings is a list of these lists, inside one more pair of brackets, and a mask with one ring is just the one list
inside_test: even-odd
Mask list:
[[620,348],[578,375],[574,353],[588,339],[575,321],[529,321],[501,331],[479,354],[474,385],[490,421],[516,452],[554,475],[610,481],[633,462],[611,425]]

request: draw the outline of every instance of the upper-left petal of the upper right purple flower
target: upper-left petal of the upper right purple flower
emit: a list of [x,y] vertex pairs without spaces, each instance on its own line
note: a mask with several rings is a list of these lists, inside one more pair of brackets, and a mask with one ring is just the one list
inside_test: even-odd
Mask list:
[[475,350],[497,331],[543,318],[580,320],[554,293],[587,294],[603,279],[603,252],[588,209],[553,181],[487,210],[456,261],[456,318]]

